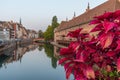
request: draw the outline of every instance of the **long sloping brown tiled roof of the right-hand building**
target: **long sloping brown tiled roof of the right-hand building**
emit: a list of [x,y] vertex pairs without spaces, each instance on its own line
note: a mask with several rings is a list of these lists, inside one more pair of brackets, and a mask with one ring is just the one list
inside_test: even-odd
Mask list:
[[106,11],[115,11],[117,9],[120,9],[120,1],[109,0],[69,21],[62,21],[56,31],[61,31],[67,28],[78,26],[82,23],[89,22],[94,16],[103,14]]

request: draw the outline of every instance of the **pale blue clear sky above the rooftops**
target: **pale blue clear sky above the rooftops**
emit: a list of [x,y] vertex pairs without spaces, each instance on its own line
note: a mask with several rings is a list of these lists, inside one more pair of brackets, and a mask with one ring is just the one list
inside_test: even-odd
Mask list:
[[45,31],[51,24],[52,17],[58,22],[84,13],[88,2],[94,8],[107,0],[0,0],[0,21],[19,22],[27,29]]

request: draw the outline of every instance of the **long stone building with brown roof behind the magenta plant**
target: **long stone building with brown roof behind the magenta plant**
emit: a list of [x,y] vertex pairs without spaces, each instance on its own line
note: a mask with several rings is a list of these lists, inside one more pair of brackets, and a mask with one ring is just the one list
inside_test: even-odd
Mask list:
[[[61,24],[54,30],[54,41],[71,41],[74,39],[65,37],[69,31],[83,28],[83,32],[89,32],[94,26],[90,26],[88,23],[93,19],[94,16],[101,15],[108,11],[116,11],[120,9],[120,0],[108,0],[105,3],[90,9],[89,3],[86,12],[80,16],[75,17],[71,20],[62,21]],[[94,35],[94,33],[93,33]]]

